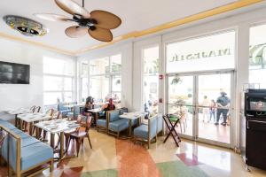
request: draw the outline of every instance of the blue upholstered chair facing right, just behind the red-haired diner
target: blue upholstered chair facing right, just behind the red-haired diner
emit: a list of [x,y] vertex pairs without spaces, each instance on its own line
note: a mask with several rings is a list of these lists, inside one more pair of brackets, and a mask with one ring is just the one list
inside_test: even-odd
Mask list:
[[121,119],[121,110],[107,112],[108,134],[119,137],[120,132],[129,128],[129,120]]

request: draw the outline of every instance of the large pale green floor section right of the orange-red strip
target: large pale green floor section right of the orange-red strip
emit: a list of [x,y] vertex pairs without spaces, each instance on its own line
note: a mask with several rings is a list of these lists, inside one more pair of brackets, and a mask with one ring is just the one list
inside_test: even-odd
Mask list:
[[182,161],[156,164],[163,177],[208,177],[198,166],[187,166]]

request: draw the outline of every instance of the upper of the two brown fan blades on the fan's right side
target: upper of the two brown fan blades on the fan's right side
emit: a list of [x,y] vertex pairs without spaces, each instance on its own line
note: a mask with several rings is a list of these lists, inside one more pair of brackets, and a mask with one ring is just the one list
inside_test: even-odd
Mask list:
[[90,12],[90,18],[97,20],[97,27],[114,29],[121,25],[121,19],[111,12],[96,10]]

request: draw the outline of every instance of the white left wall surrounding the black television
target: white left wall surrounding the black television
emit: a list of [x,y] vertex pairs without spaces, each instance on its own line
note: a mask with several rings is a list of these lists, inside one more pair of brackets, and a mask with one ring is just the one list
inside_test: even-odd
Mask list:
[[0,61],[30,65],[29,84],[0,84],[0,112],[20,107],[43,107],[43,57],[72,58],[25,43],[0,39]]

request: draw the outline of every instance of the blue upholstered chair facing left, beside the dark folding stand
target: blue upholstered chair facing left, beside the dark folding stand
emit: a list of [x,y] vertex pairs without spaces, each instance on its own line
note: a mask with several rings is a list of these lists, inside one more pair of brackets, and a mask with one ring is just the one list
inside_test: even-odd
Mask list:
[[148,149],[154,139],[157,141],[157,135],[162,131],[163,121],[162,115],[155,115],[148,119],[148,124],[142,124],[134,129],[133,135],[136,140],[147,142]]

